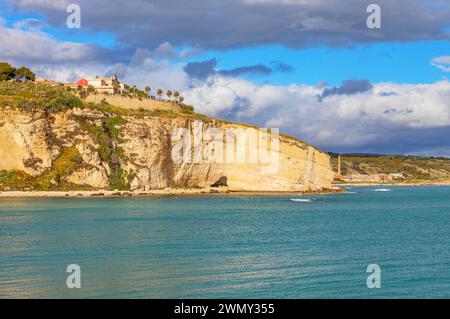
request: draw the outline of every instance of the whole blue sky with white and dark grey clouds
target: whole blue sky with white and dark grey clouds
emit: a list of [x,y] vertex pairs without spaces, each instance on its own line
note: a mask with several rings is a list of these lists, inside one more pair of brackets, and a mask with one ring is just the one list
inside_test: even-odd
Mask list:
[[180,90],[327,151],[450,156],[449,0],[2,0],[0,60]]

